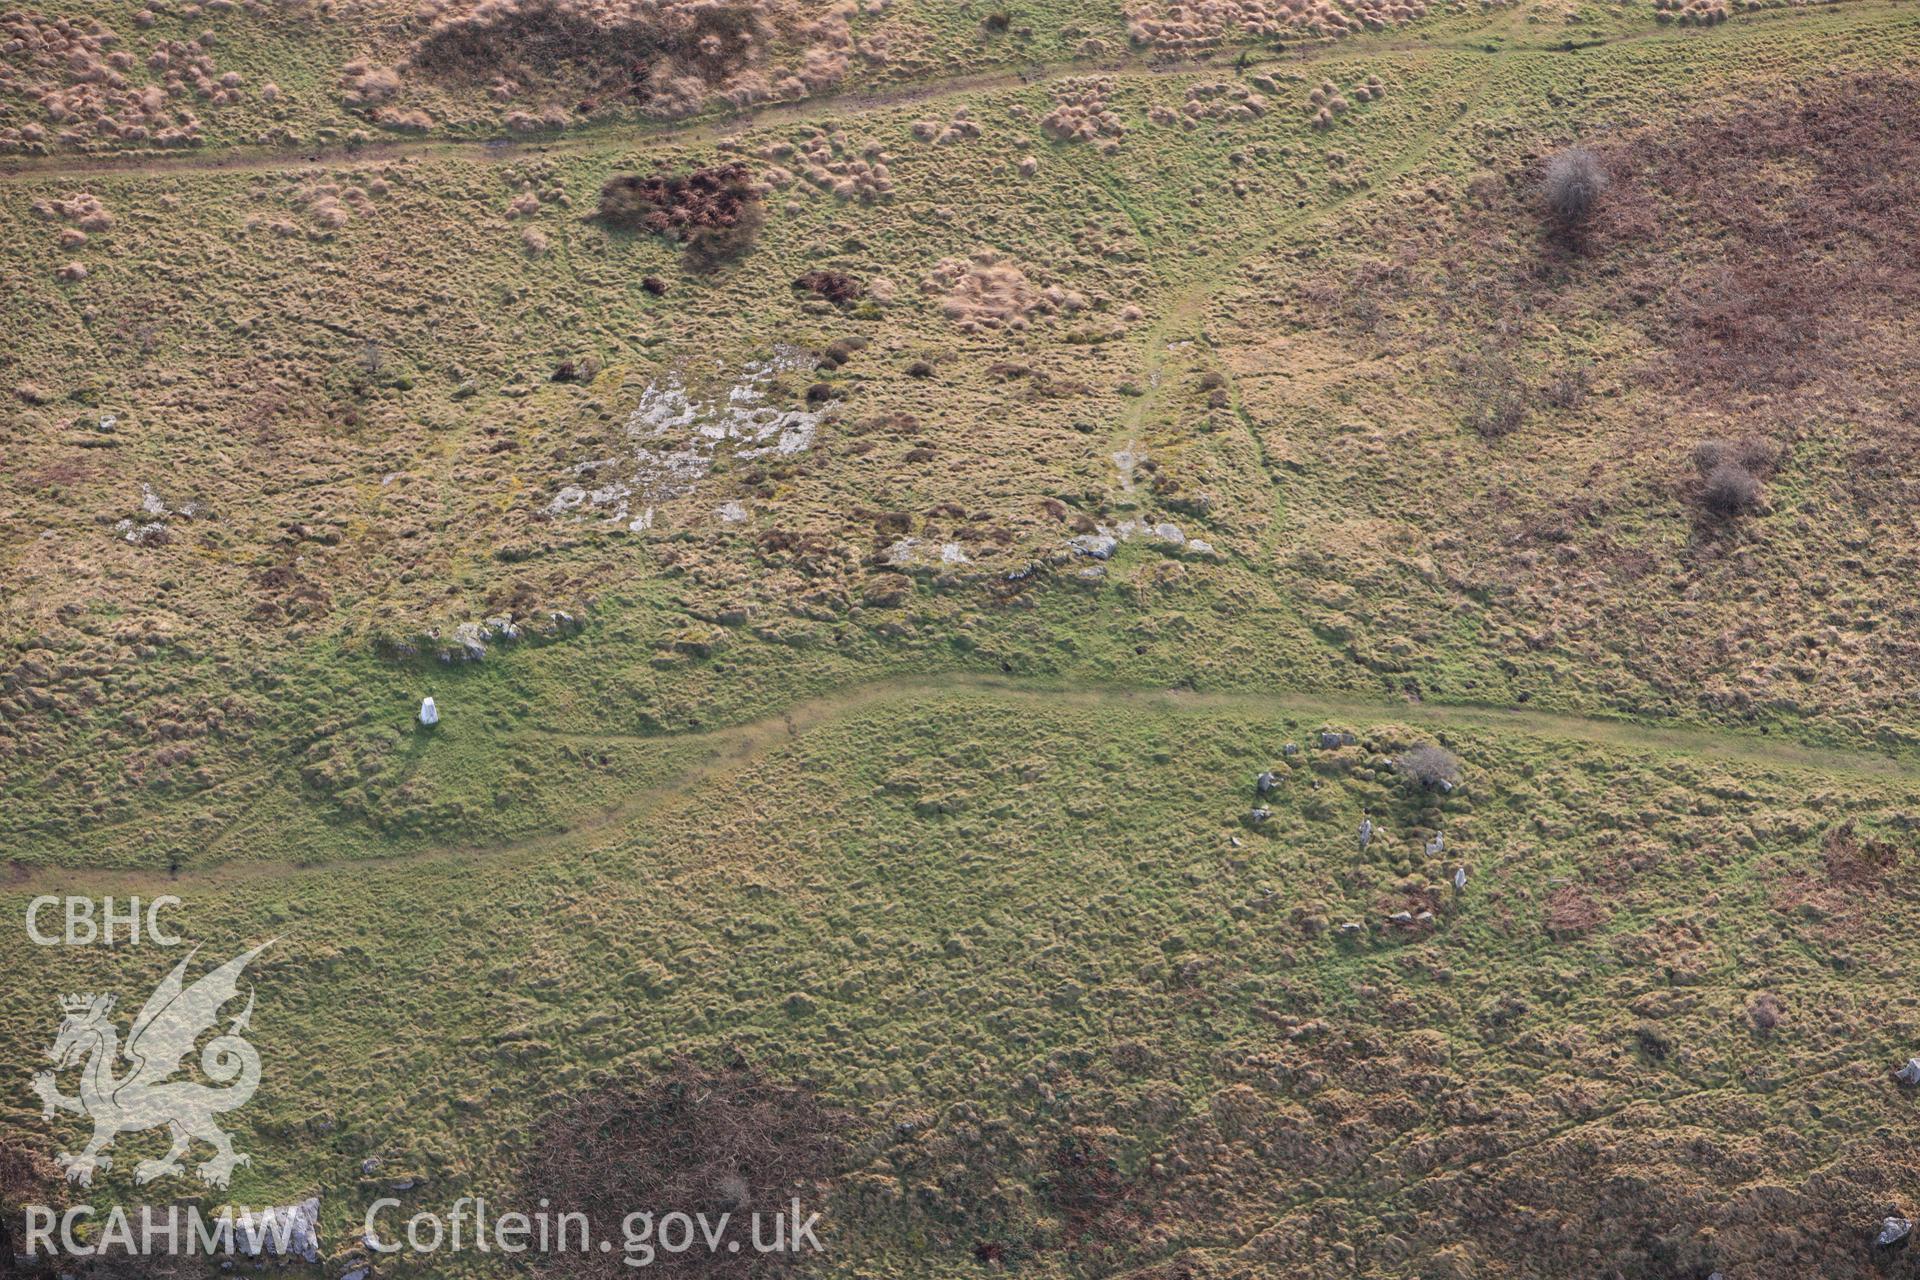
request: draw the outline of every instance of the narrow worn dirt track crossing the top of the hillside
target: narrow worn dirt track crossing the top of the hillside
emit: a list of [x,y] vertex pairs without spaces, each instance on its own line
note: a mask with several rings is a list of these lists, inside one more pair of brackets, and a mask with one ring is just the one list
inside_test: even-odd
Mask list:
[[[1738,21],[1749,25],[1755,21],[1780,21],[1780,19],[1812,19],[1814,15],[1826,17],[1834,8],[1845,2],[1849,15],[1860,10],[1872,12],[1876,15],[1895,15],[1901,12],[1901,0],[1832,0],[1832,4],[1818,10],[1757,10],[1753,13],[1743,13]],[[991,92],[998,88],[1016,88],[1027,84],[1044,84],[1069,75],[1125,75],[1125,77],[1154,77],[1154,75],[1183,75],[1208,69],[1256,69],[1256,67],[1292,67],[1292,65],[1319,65],[1319,63],[1342,63],[1357,61],[1367,58],[1379,58],[1380,54],[1396,52],[1415,52],[1415,50],[1482,50],[1488,54],[1567,54],[1592,48],[1609,48],[1615,44],[1636,44],[1645,40],[1678,40],[1678,38],[1703,38],[1703,31],[1690,27],[1647,27],[1640,31],[1628,31],[1622,35],[1594,36],[1588,40],[1576,40],[1567,35],[1559,40],[1544,40],[1540,44],[1503,44],[1500,48],[1488,46],[1488,31],[1505,29],[1509,23],[1498,21],[1507,17],[1505,13],[1496,13],[1496,21],[1484,27],[1473,27],[1465,33],[1450,38],[1434,36],[1346,36],[1342,40],[1327,40],[1321,44],[1304,46],[1292,52],[1256,52],[1256,46],[1223,46],[1206,58],[1169,58],[1164,52],[1150,48],[1127,50],[1119,58],[1069,58],[1062,61],[1044,61],[1021,67],[1018,71],[970,71],[954,77],[941,77],[933,81],[920,81],[914,84],[893,84],[885,88],[852,88],[845,92],[828,92],[803,98],[799,102],[781,102],[758,109],[730,111],[726,115],[701,115],[684,121],[660,123],[660,125],[634,125],[632,121],[612,121],[607,125],[584,125],[574,127],[564,132],[557,132],[551,138],[541,140],[538,134],[492,134],[474,138],[422,138],[422,140],[394,140],[394,142],[369,142],[363,146],[230,146],[230,148],[202,148],[196,152],[165,152],[165,154],[109,154],[98,157],[44,157],[44,159],[10,159],[0,165],[0,182],[36,182],[46,178],[84,178],[100,173],[211,173],[211,171],[250,171],[250,169],[296,169],[301,165],[338,165],[338,163],[376,163],[401,157],[440,157],[440,155],[461,155],[476,154],[486,159],[509,161],[520,159],[526,154],[566,154],[566,152],[589,152],[603,146],[624,146],[624,144],[643,144],[643,142],[699,142],[707,138],[726,138],[747,129],[760,129],[768,125],[780,125],[783,121],[808,121],[824,119],[828,115],[860,115],[866,111],[891,109],[900,106],[910,106],[918,102],[937,102],[943,98]],[[1242,59],[1244,61],[1238,61]]]

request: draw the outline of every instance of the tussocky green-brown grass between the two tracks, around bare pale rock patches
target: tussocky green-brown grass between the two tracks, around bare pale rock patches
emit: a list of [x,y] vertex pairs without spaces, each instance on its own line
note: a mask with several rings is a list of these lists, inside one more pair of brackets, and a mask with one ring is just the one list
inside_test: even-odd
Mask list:
[[[1741,77],[1847,59],[1870,65],[1897,44],[1903,21],[1878,8],[1845,8],[1809,15],[1805,25],[1761,15],[1711,33],[1661,31],[1578,54],[1515,48],[1501,58],[1444,42],[1409,48],[1402,36],[1357,38],[1315,56],[1298,83],[1288,81],[1304,94],[1323,75],[1384,79],[1380,102],[1357,106],[1327,134],[1309,130],[1286,94],[1246,125],[1194,132],[1152,125],[1148,107],[1179,109],[1185,84],[1227,69],[1123,73],[1114,102],[1129,136],[1114,155],[1039,136],[1035,115],[1052,102],[1046,83],[970,94],[989,132],[948,148],[908,136],[914,119],[939,115],[933,104],[862,109],[843,125],[856,142],[895,154],[895,201],[862,207],[776,194],[774,221],[753,259],[716,280],[685,276],[668,246],[609,238],[576,219],[609,173],[655,157],[755,155],[801,129],[749,130],[730,152],[699,136],[643,148],[586,140],[549,155],[476,161],[428,152],[300,178],[100,175],[88,188],[108,200],[119,225],[84,251],[94,274],[81,286],[52,282],[67,253],[27,215],[33,200],[63,186],[13,182],[4,200],[19,221],[8,253],[25,294],[12,368],[15,378],[31,372],[56,397],[25,409],[31,443],[17,474],[67,478],[15,489],[8,557],[19,585],[8,635],[25,654],[48,639],[50,652],[35,660],[73,670],[48,687],[52,708],[19,706],[33,747],[10,770],[8,825],[29,862],[125,860],[58,848],[92,827],[175,812],[186,818],[161,823],[177,835],[163,837],[167,848],[154,858],[194,858],[230,818],[219,796],[240,796],[263,771],[284,791],[317,741],[344,735],[340,758],[367,754],[369,741],[372,754],[392,758],[369,766],[359,796],[305,789],[282,802],[317,806],[315,819],[300,819],[305,827],[332,829],[372,802],[405,810],[396,814],[403,827],[434,827],[457,841],[501,837],[547,823],[570,796],[589,798],[597,787],[576,785],[530,745],[513,745],[515,727],[659,731],[755,720],[851,679],[947,666],[1131,683],[1419,689],[1427,699],[1469,702],[1524,695],[1580,712],[1720,718],[1661,689],[1659,654],[1620,647],[1628,629],[1603,633],[1576,662],[1521,649],[1517,628],[1500,616],[1501,597],[1471,580],[1475,566],[1455,570],[1421,545],[1444,530],[1411,535],[1402,555],[1407,535],[1398,526],[1428,501],[1434,466],[1450,464],[1459,445],[1440,436],[1438,459],[1423,445],[1394,466],[1365,455],[1356,472],[1354,459],[1329,455],[1321,441],[1356,416],[1400,430],[1409,416],[1404,390],[1423,388],[1432,374],[1396,359],[1342,380],[1338,405],[1315,403],[1311,388],[1288,390],[1298,355],[1261,363],[1260,342],[1273,324],[1260,299],[1286,297],[1321,271],[1336,278],[1352,271],[1359,238],[1392,230],[1388,219],[1423,186],[1459,190],[1488,163],[1509,163],[1515,146],[1490,150],[1490,138],[1511,130],[1553,136],[1565,129],[1557,121],[1574,119],[1603,129],[1609,113],[1647,100],[1678,119],[1690,100],[1711,102]],[[1281,59],[1271,71],[1296,75],[1290,65]],[[1008,115],[1014,107],[1029,113],[1025,123]],[[824,115],[835,119],[831,109]],[[1018,142],[1021,134],[1027,144]],[[1269,148],[1263,163],[1233,163],[1258,148]],[[1043,167],[1020,180],[1012,163],[1029,152]],[[1331,171],[1332,152],[1346,161]],[[380,175],[390,194],[374,196],[371,213],[332,236],[280,240],[246,230],[250,219],[300,223],[286,196],[294,188],[328,177],[369,184]],[[1219,182],[1233,175],[1252,177],[1261,190],[1231,196]],[[1338,175],[1363,184],[1334,182]],[[532,223],[553,238],[547,257],[528,257],[520,223],[499,217],[522,177],[559,184],[572,200],[570,209],[543,205]],[[1190,198],[1196,184],[1204,198]],[[169,194],[179,196],[177,207],[161,203]],[[791,213],[789,198],[797,201]],[[1102,223],[1123,223],[1133,248],[1102,257],[1096,246],[1114,232],[1087,232]],[[1027,336],[952,332],[920,296],[920,280],[937,259],[977,246],[998,248],[1044,273],[1043,280],[1104,294],[1092,324],[1112,326],[1117,338],[1064,344],[1071,320]],[[1244,261],[1263,276],[1252,288],[1240,276]],[[900,301],[879,319],[810,311],[781,282],[822,263],[860,278],[883,274]],[[668,278],[674,292],[649,297],[636,286],[647,274]],[[330,320],[336,297],[348,301]],[[1116,322],[1127,303],[1146,319]],[[136,342],[140,334],[150,349]],[[872,345],[837,380],[849,395],[845,424],[774,476],[770,497],[753,499],[735,487],[733,472],[722,472],[687,505],[693,510],[670,516],[687,524],[664,539],[528,520],[568,478],[570,462],[622,447],[624,405],[680,353],[716,351],[737,363],[772,342],[824,345],[847,334]],[[357,372],[369,342],[382,351],[372,382]],[[1175,342],[1194,345],[1173,349]],[[1607,342],[1596,340],[1601,359]],[[1327,359],[1317,345],[1302,351],[1309,365]],[[584,353],[609,365],[591,386],[545,384],[555,363]],[[902,374],[922,355],[943,361],[933,388]],[[1035,397],[1020,380],[983,378],[995,361],[1029,363],[1081,390]],[[1208,409],[1198,390],[1200,374],[1219,368],[1235,376],[1225,413]],[[1129,382],[1148,393],[1117,395]],[[1444,420],[1450,388],[1423,391],[1411,401],[1415,413]],[[119,416],[113,434],[94,430],[100,411]],[[847,428],[889,413],[912,413],[920,426],[851,457]],[[288,449],[296,436],[305,443]],[[900,461],[916,439],[935,445],[931,466]],[[1117,495],[1110,455],[1127,439],[1181,491],[1164,501],[1144,491]],[[513,449],[501,453],[503,443]],[[100,522],[132,512],[140,484],[157,484],[175,503],[200,499],[215,518],[182,524],[159,551],[104,539]],[[703,528],[708,497],[735,493],[755,507],[747,532]],[[1171,570],[1158,553],[1127,547],[1104,585],[1089,591],[1056,574],[1014,601],[1037,612],[1010,610],[981,585],[1060,555],[1068,530],[1041,507],[1054,497],[1096,518],[1125,512],[1131,501],[1137,514],[1173,518],[1208,537],[1227,562]],[[1185,510],[1188,499],[1204,499],[1206,514]],[[943,526],[918,514],[939,503],[1006,530],[1012,543],[975,547],[972,583],[922,587],[904,633],[881,626],[895,618],[856,608],[858,560],[876,543],[852,512],[906,510],[918,535],[950,537],[964,522]],[[1356,522],[1356,509],[1373,524]],[[326,537],[338,541],[288,543],[282,530],[292,522],[334,530]],[[839,566],[803,587],[753,541],[776,528],[824,533],[843,557]],[[1642,528],[1624,535],[1674,537],[1670,524]],[[42,539],[44,532],[54,539]],[[1382,543],[1384,558],[1377,555]],[[1432,581],[1436,562],[1450,581]],[[307,597],[288,603],[286,589],[265,585],[263,574],[286,568],[321,593],[321,608],[300,616]],[[94,599],[138,612],[52,616],[88,583],[100,589]],[[849,604],[833,604],[831,622],[781,618],[791,595],[808,587],[845,593]],[[1350,604],[1329,608],[1323,587],[1334,597],[1346,591]],[[394,668],[369,654],[374,635],[445,629],[493,612],[507,591],[536,608],[574,610],[589,620],[588,631],[540,651],[497,652],[484,674]],[[1365,601],[1367,616],[1352,608],[1354,597]],[[1634,601],[1622,595],[1620,603]],[[296,612],[255,612],[282,604]],[[756,618],[720,658],[653,666],[693,622],[689,610],[712,616],[741,604]],[[140,649],[150,652],[140,656]],[[75,664],[75,654],[94,660]],[[96,664],[111,674],[92,676]],[[459,770],[478,789],[516,775],[532,779],[513,783],[516,794],[555,785],[551,804],[530,798],[488,814],[486,804],[467,802],[465,783],[434,777],[430,760],[380,748],[403,731],[420,693],[444,681],[461,689],[457,735],[472,727],[474,697],[486,708],[490,748],[463,752]],[[228,710],[213,716],[219,704]],[[129,706],[140,708],[132,723]],[[161,718],[188,725],[186,766],[146,762],[177,741],[156,735]],[[1776,729],[1801,723],[1795,731],[1841,743],[1908,733],[1885,702],[1841,710],[1814,699],[1766,718]],[[401,779],[415,779],[426,798],[397,802]],[[634,779],[643,781],[641,773]],[[60,842],[40,850],[35,833]]]

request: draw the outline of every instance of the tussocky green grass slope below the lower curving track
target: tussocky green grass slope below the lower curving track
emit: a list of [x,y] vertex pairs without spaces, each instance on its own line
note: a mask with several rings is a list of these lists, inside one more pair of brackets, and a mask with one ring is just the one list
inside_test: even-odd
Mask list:
[[[553,1100],[735,1048],[854,1117],[828,1274],[968,1274],[981,1240],[1018,1244],[1043,1274],[1079,1274],[1089,1251],[1144,1261],[1154,1249],[1135,1242],[1068,1249],[1031,1151],[998,1150],[973,1184],[935,1173],[939,1144],[981,1113],[1029,1138],[1104,1130],[1129,1171],[1194,1161],[1194,1144],[1217,1138],[1223,1092],[1246,1084],[1269,1121],[1348,1096],[1342,1138],[1306,1165],[1210,1190],[1219,1219],[1190,1196],[1221,1169],[1156,1174],[1169,1249],[1250,1257],[1292,1205],[1346,1196],[1365,1207],[1342,1238],[1363,1242],[1423,1203],[1432,1174],[1409,1173],[1415,1151],[1546,1173],[1559,1146],[1544,1138],[1626,1150],[1655,1117],[1703,1123],[1701,1100],[1778,1123],[1828,1100],[1791,1146],[1774,1119],[1740,1132],[1782,1161],[1788,1186],[1866,1213],[1870,1186],[1803,1178],[1860,1144],[1884,1148],[1899,1125],[1891,1086],[1868,1084],[1903,1052],[1912,1004],[1887,963],[1897,913],[1887,890],[1853,896],[1839,917],[1780,900],[1824,883],[1818,844],[1836,823],[1903,821],[1914,781],[1461,718],[1438,733],[1467,783],[1436,802],[1380,760],[1432,733],[1423,718],[1261,712],[1252,699],[891,695],[780,731],[630,821],[568,839],[313,869],[257,850],[259,865],[177,881],[42,873],[0,906],[17,913],[46,889],[165,889],[184,900],[175,927],[209,960],[278,938],[255,965],[267,1077],[234,1113],[253,1165],[228,1196],[321,1192],[342,1257],[386,1178],[426,1174],[409,1199],[422,1207],[511,1196],[526,1126]],[[1327,723],[1363,745],[1321,750]],[[1290,766],[1288,741],[1304,747]],[[1283,783],[1273,821],[1252,831],[1240,816],[1261,768]],[[1363,812],[1380,827],[1365,854]],[[1436,827],[1448,850],[1428,858]],[[1405,890],[1457,864],[1469,887],[1438,896],[1430,935],[1384,925]],[[1546,933],[1557,883],[1603,904],[1594,933]],[[1365,925],[1359,940],[1338,933],[1348,919]],[[8,938],[8,1073],[27,1073],[50,1038],[54,992],[119,990],[125,1004],[179,958]],[[1763,990],[1789,1007],[1770,1036],[1743,1013]],[[1300,1023],[1336,1031],[1300,1038]],[[1638,1055],[1642,1023],[1676,1054]],[[1146,1046],[1150,1065],[1117,1067],[1121,1042]],[[1572,1113],[1569,1090],[1582,1098]],[[1459,1148],[1467,1098],[1496,1119]],[[1146,1113],[1160,1119],[1142,1125]],[[933,1123],[902,1150],[891,1125],[908,1115]],[[71,1144],[71,1128],[54,1132]],[[123,1176],[142,1142],[123,1138],[106,1176]],[[386,1161],[380,1178],[359,1174],[367,1155]],[[1655,1176],[1645,1213],[1697,1194],[1701,1176]],[[1459,1240],[1498,1257],[1494,1228],[1463,1213],[1427,1203],[1415,1253],[1371,1265],[1419,1274]],[[436,1268],[468,1272],[490,1274],[474,1259]]]

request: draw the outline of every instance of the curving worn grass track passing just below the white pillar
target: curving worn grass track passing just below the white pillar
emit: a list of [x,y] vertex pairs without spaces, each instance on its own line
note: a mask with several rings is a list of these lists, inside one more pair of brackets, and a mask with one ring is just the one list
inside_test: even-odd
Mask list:
[[[1288,712],[1296,716],[1319,716],[1329,725],[1352,727],[1354,723],[1394,722],[1407,727],[1427,729],[1480,729],[1507,731],[1526,737],[1559,743],[1586,743],[1613,748],[1638,750],[1649,756],[1695,756],[1705,760],[1724,760],[1763,768],[1807,770],[1830,775],[1857,775],[1878,779],[1920,781],[1920,760],[1872,750],[1849,750],[1841,747],[1812,747],[1807,743],[1763,739],[1757,735],[1701,729],[1701,727],[1657,727],[1626,718],[1578,716],[1569,712],[1542,712],[1517,706],[1494,704],[1448,704],[1448,702],[1404,702],[1394,699],[1357,699],[1340,695],[1321,695],[1311,691],[1212,691],[1196,693],[1187,689],[1129,687],[1129,685],[1075,685],[1058,681],[1025,681],[1000,676],[954,674],[943,679],[899,677],[877,679],[851,687],[843,693],[797,702],[785,712],[755,720],[741,725],[708,729],[684,735],[643,735],[643,733],[551,733],[547,737],[630,741],[630,743],[680,743],[697,747],[695,764],[678,775],[657,785],[643,787],[620,804],[588,814],[564,831],[549,831],[532,837],[497,842],[461,842],[442,848],[411,850],[372,858],[338,860],[334,865],[386,865],[411,862],[440,862],[461,858],[518,860],[557,852],[574,844],[595,844],[595,837],[618,833],[634,821],[659,814],[685,798],[708,781],[730,771],[745,771],[747,766],[764,758],[776,745],[801,737],[812,729],[843,720],[883,702],[916,702],[935,695],[966,695],[983,702],[1037,702],[1066,708],[1127,708],[1146,712],[1173,712],[1187,716],[1208,716],[1215,712]],[[244,819],[228,825],[228,833],[244,827]],[[221,848],[223,841],[209,846]],[[163,885],[196,883],[246,883],[257,877],[278,877],[292,869],[323,867],[315,862],[217,862],[204,867],[182,869],[177,877],[127,869],[79,869],[79,867],[38,867],[19,873],[12,889],[21,892],[42,885],[94,887],[94,889],[152,889]]]

